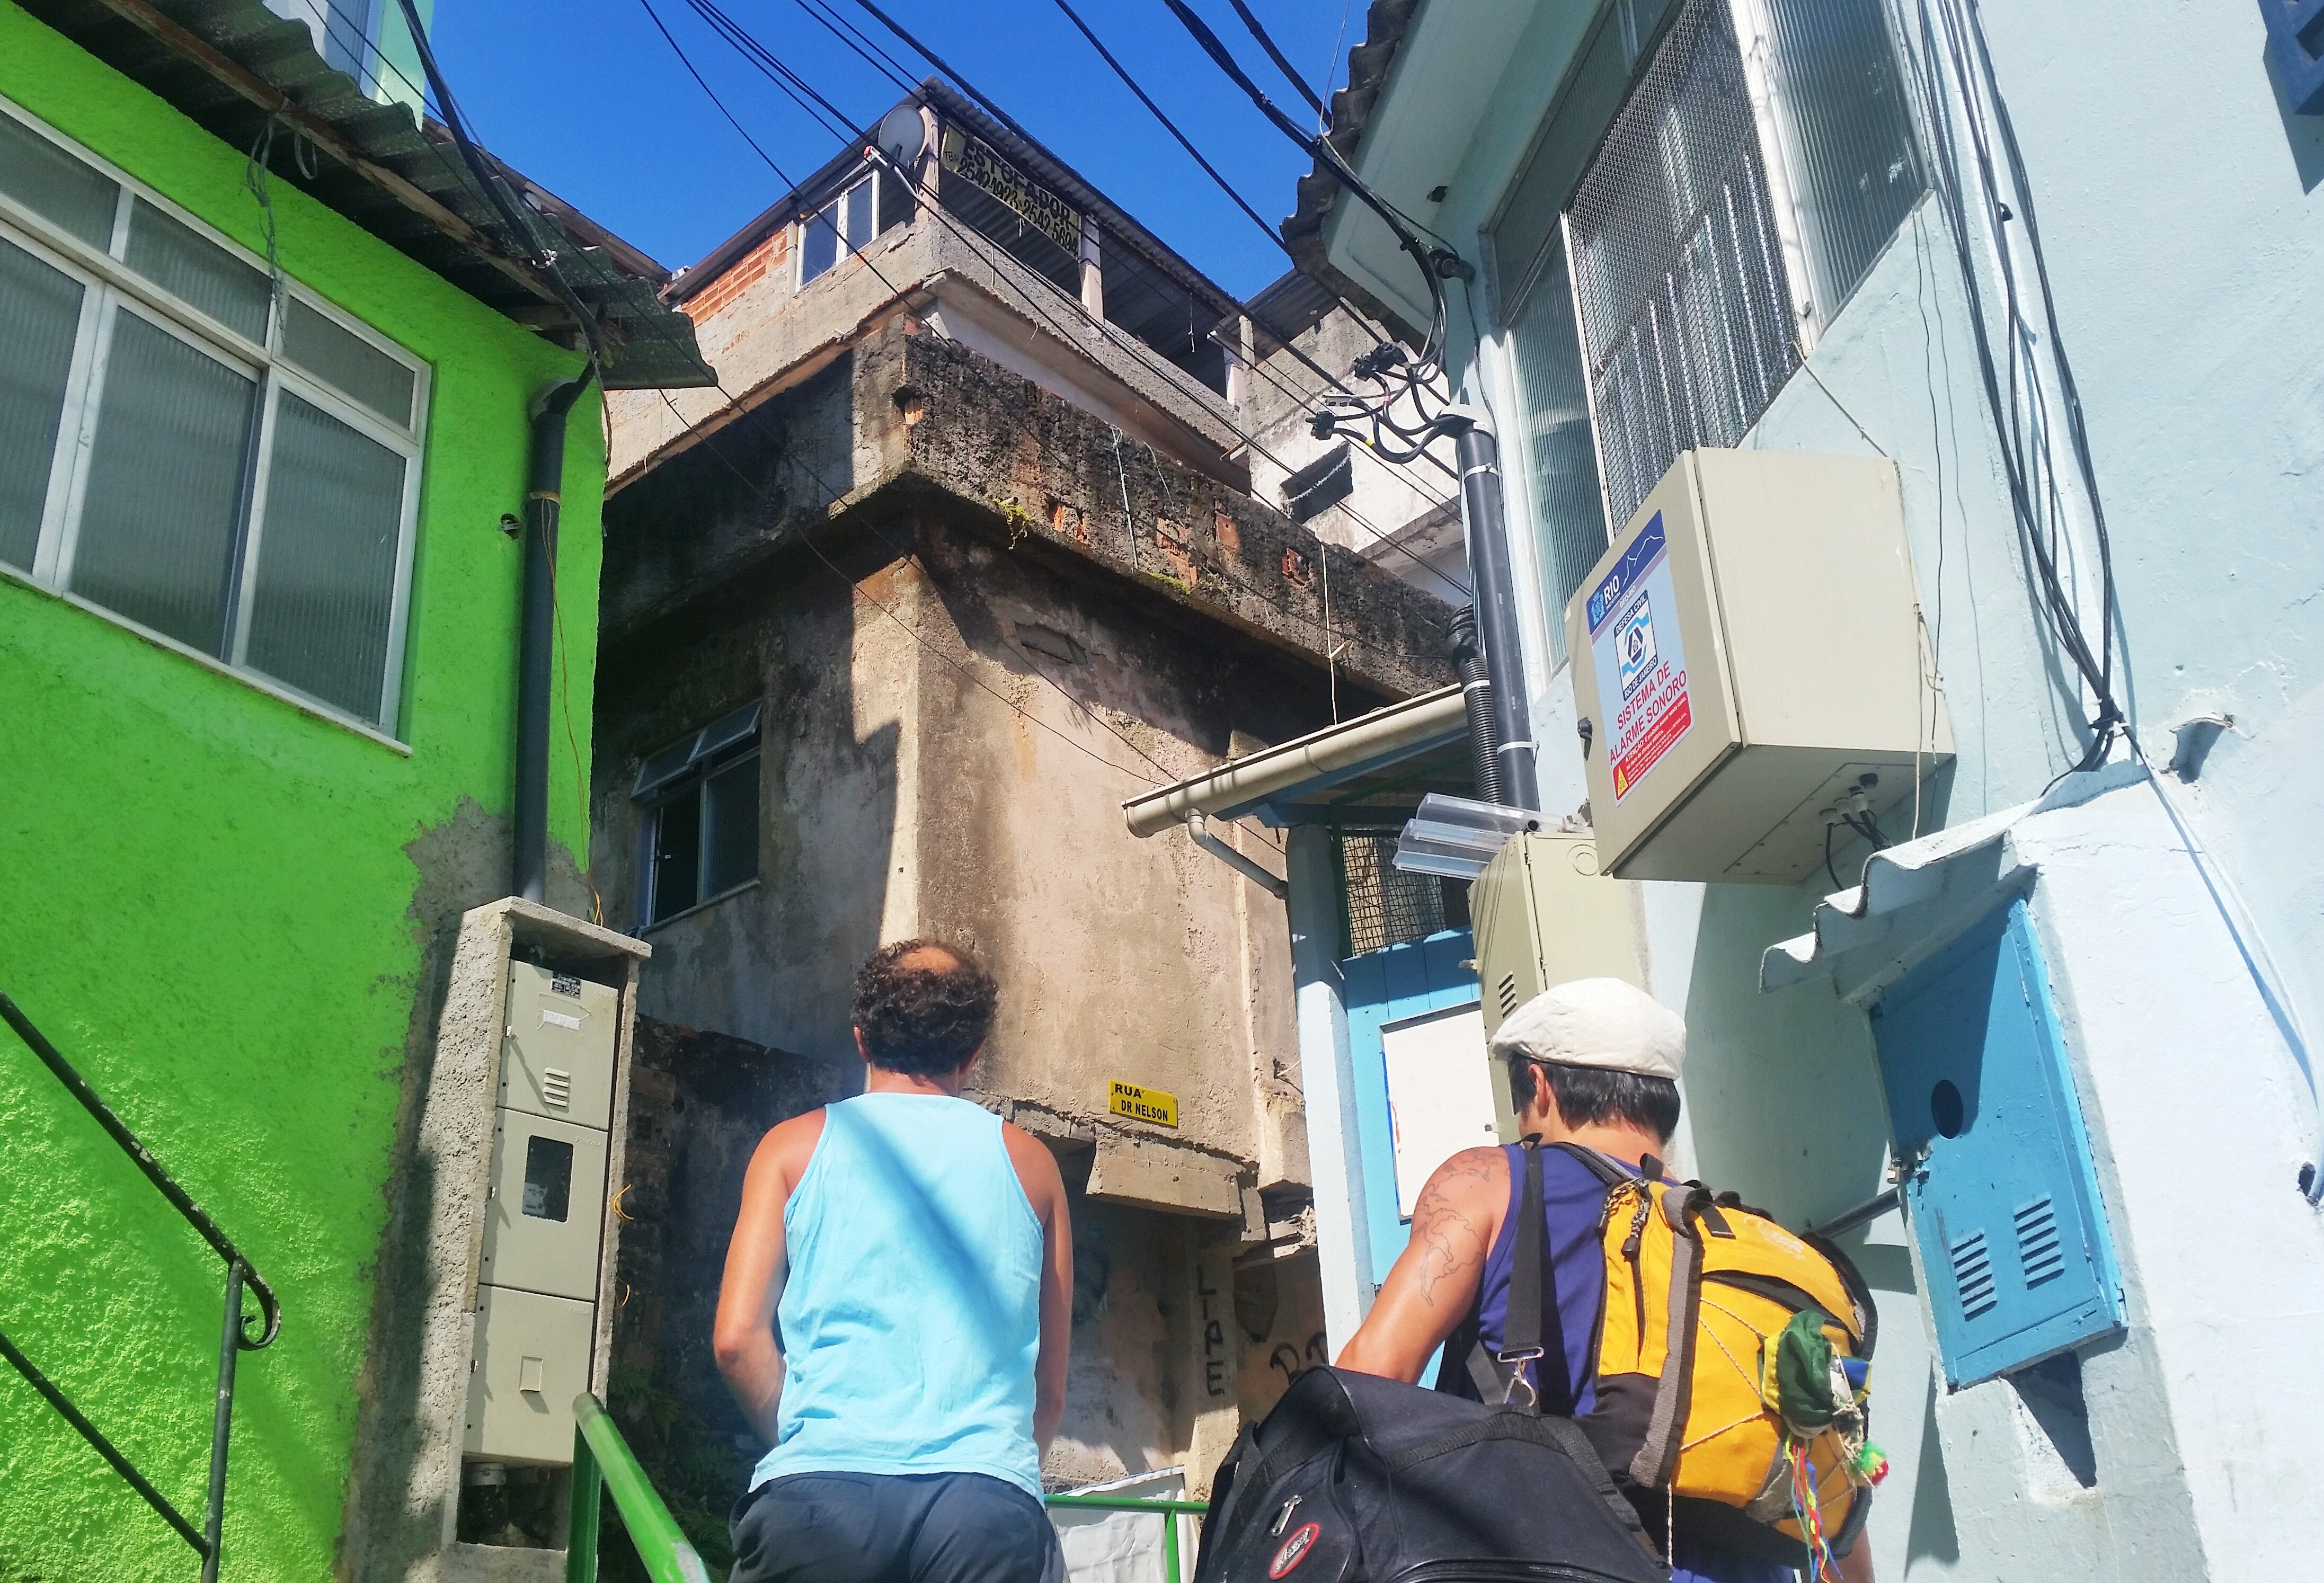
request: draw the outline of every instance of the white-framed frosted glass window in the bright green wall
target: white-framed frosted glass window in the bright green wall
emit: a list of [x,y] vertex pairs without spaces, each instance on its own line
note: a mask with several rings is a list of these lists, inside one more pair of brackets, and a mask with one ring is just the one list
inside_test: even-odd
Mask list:
[[0,193],[0,563],[393,725],[423,365],[12,114]]

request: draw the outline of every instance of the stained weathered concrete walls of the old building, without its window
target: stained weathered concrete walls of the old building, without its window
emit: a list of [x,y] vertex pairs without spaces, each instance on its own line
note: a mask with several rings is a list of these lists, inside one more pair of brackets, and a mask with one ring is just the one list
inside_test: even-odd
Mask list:
[[[1129,841],[1120,802],[1332,718],[1325,556],[1341,709],[1443,679],[1441,604],[1167,458],[1120,463],[1083,411],[890,325],[632,484],[607,542],[609,916],[637,916],[639,760],[765,700],[758,881],[653,927],[641,1007],[853,1086],[848,983],[881,939],[985,955],[971,1095],[1074,1190],[1060,1483],[1215,1462],[1243,1409],[1232,1260],[1260,1190],[1278,1213],[1306,1190],[1281,902]],[[1274,837],[1229,839],[1281,867]],[[1178,1127],[1111,1116],[1109,1079],[1178,1095]],[[1132,1148],[1162,1169],[1122,1188]]]

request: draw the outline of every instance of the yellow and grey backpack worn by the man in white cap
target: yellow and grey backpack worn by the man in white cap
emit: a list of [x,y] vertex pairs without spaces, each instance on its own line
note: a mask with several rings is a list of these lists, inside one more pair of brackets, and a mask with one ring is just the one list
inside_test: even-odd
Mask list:
[[[1590,1148],[1552,1148],[1608,1186],[1597,1399],[1578,1423],[1615,1485],[1671,1530],[1824,1576],[1831,1546],[1848,1548],[1871,1509],[1868,1488],[1887,1474],[1864,1439],[1878,1334],[1864,1278],[1829,1241],[1803,1241],[1731,1192],[1662,1181],[1659,1160],[1643,1160],[1641,1179]],[[1504,1402],[1522,1388],[1525,1358],[1564,1351],[1562,1341],[1545,1348],[1532,1318],[1557,1313],[1541,1302],[1534,1146],[1525,1148],[1515,1241],[1508,1334],[1492,1360]],[[1483,1367],[1480,1355],[1471,1371]],[[1557,1376],[1543,1376],[1552,1390]]]

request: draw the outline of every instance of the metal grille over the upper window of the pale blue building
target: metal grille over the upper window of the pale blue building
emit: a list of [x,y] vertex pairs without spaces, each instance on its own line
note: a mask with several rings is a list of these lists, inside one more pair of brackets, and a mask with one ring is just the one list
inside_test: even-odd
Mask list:
[[1743,56],[1690,0],[1566,207],[1606,507],[1622,525],[1680,451],[1734,446],[1799,367]]

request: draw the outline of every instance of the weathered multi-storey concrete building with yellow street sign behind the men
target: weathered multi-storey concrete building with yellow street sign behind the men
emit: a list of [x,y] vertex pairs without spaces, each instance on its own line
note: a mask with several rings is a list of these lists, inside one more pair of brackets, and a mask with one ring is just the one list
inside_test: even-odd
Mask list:
[[902,177],[848,151],[676,284],[732,400],[614,409],[593,879],[653,944],[658,1162],[616,1348],[681,1511],[758,1457],[706,1353],[748,1141],[860,1083],[848,983],[909,934],[992,965],[974,1095],[1071,1190],[1046,1476],[1206,1483],[1320,1355],[1281,851],[1116,809],[1448,679],[1441,600],[1248,493],[1236,305],[951,93],[897,123]]

